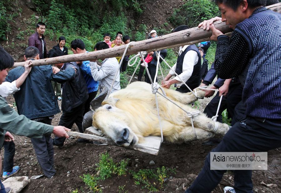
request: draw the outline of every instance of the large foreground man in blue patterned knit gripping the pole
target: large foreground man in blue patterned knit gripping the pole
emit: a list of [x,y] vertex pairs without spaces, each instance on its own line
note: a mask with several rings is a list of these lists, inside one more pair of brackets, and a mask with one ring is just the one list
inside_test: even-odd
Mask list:
[[[281,146],[281,14],[264,8],[264,0],[215,0],[222,18],[204,21],[217,41],[214,68],[222,79],[239,76],[244,86],[244,119],[234,124],[212,152],[264,152]],[[231,38],[212,24],[222,20],[234,29]],[[277,48],[276,48],[277,45]],[[209,193],[226,170],[205,165],[186,193]],[[234,170],[234,188],[224,192],[252,193],[252,171]]]

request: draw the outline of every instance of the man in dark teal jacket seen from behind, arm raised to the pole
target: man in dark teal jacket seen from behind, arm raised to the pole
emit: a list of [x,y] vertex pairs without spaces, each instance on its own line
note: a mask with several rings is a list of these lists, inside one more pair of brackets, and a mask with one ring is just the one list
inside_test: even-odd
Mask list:
[[[25,50],[26,60],[39,59],[39,50],[28,47]],[[9,71],[6,81],[12,82],[22,75],[24,67],[17,67]],[[57,72],[53,74],[53,72]],[[31,120],[52,125],[54,114],[60,113],[59,106],[52,88],[51,80],[73,79],[74,69],[59,72],[59,69],[50,65],[34,66],[27,76],[21,89],[14,94],[18,114],[23,114]],[[37,160],[48,178],[52,177],[54,169],[54,150],[51,134],[43,135],[42,138],[32,138]]]

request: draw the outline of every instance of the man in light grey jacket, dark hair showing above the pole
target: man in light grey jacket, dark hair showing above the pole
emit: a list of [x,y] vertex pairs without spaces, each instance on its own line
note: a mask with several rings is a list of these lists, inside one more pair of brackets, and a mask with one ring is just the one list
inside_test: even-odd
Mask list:
[[[95,45],[95,51],[107,49],[109,46],[105,42],[98,42]],[[116,90],[120,90],[120,71],[119,63],[116,58],[106,58],[102,61],[101,66],[98,66],[96,61],[91,62],[91,73],[95,81],[100,81],[100,89],[107,87],[110,89],[112,82],[113,87],[111,93]],[[118,73],[117,73],[118,71]],[[117,73],[116,78],[114,79]]]

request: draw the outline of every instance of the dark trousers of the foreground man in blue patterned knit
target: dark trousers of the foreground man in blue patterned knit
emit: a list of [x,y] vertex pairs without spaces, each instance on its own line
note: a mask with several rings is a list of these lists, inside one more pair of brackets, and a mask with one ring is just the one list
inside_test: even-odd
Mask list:
[[[212,152],[264,152],[281,146],[281,121],[247,117],[237,122],[224,135]],[[210,193],[222,179],[226,170],[210,170],[210,153],[203,169],[185,193]],[[252,170],[234,170],[236,193],[252,193]]]

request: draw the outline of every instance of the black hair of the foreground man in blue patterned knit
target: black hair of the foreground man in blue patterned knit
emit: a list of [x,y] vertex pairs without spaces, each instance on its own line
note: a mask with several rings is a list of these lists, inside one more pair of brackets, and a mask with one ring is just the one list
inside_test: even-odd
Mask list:
[[[216,4],[222,3],[222,4],[232,8],[234,11],[236,11],[236,9],[238,8],[238,6],[240,5],[240,3],[242,1],[243,0],[214,0],[214,2]],[[248,2],[248,6],[250,8],[255,8],[255,7],[265,5],[266,0],[247,0],[247,2]]]

